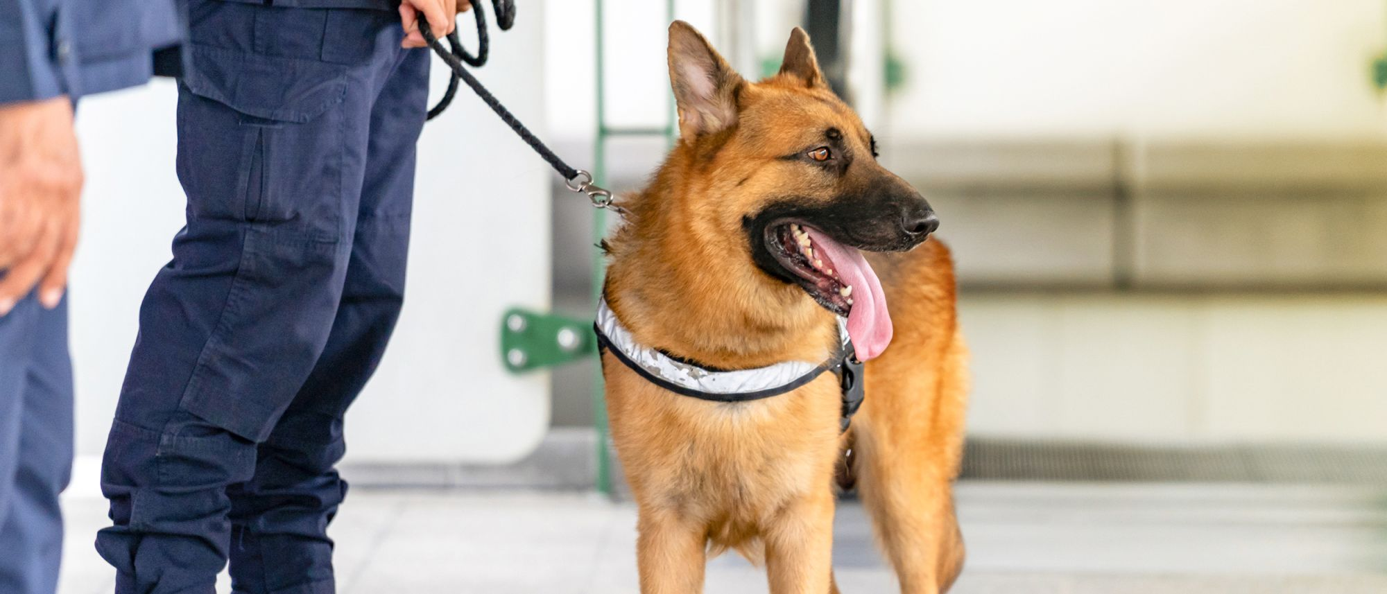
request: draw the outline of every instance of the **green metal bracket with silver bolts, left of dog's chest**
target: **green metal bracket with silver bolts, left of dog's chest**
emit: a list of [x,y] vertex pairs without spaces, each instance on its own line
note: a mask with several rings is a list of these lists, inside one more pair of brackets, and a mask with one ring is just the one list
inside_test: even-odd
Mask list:
[[501,316],[501,359],[512,373],[578,361],[596,348],[589,319],[520,308]]

